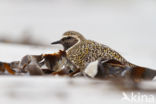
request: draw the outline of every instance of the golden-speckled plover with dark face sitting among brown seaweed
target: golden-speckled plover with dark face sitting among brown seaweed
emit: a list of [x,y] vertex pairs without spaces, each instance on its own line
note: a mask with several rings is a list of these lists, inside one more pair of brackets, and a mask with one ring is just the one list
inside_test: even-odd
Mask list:
[[128,62],[117,51],[107,45],[88,40],[76,31],[65,32],[60,40],[52,42],[51,44],[63,45],[64,51],[67,53],[67,58],[82,72],[89,63],[100,58],[104,60],[114,59],[127,66],[136,66]]

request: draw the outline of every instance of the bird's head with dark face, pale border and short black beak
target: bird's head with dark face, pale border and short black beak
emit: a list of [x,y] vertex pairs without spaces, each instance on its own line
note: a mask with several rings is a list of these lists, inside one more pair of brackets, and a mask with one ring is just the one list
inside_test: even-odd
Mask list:
[[69,48],[73,47],[75,44],[84,40],[85,38],[80,33],[75,32],[75,31],[67,31],[63,34],[61,40],[52,42],[51,44],[62,44],[64,47],[64,50],[66,51]]

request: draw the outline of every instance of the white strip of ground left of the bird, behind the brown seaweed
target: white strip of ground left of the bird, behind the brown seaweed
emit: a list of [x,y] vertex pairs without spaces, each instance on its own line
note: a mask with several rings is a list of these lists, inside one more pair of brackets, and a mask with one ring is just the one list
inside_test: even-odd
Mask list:
[[25,55],[41,55],[58,52],[63,48],[56,48],[55,46],[47,46],[47,47],[35,47],[28,45],[17,45],[17,44],[4,44],[0,43],[0,61],[16,61],[21,60],[21,58]]

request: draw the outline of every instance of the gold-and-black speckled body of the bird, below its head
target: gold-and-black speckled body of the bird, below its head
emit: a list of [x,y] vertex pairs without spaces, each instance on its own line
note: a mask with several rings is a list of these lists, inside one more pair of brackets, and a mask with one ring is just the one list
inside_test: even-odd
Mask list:
[[125,65],[135,66],[127,62],[118,52],[91,40],[81,41],[70,48],[67,51],[67,57],[81,70],[84,70],[90,62],[100,58],[115,59]]

